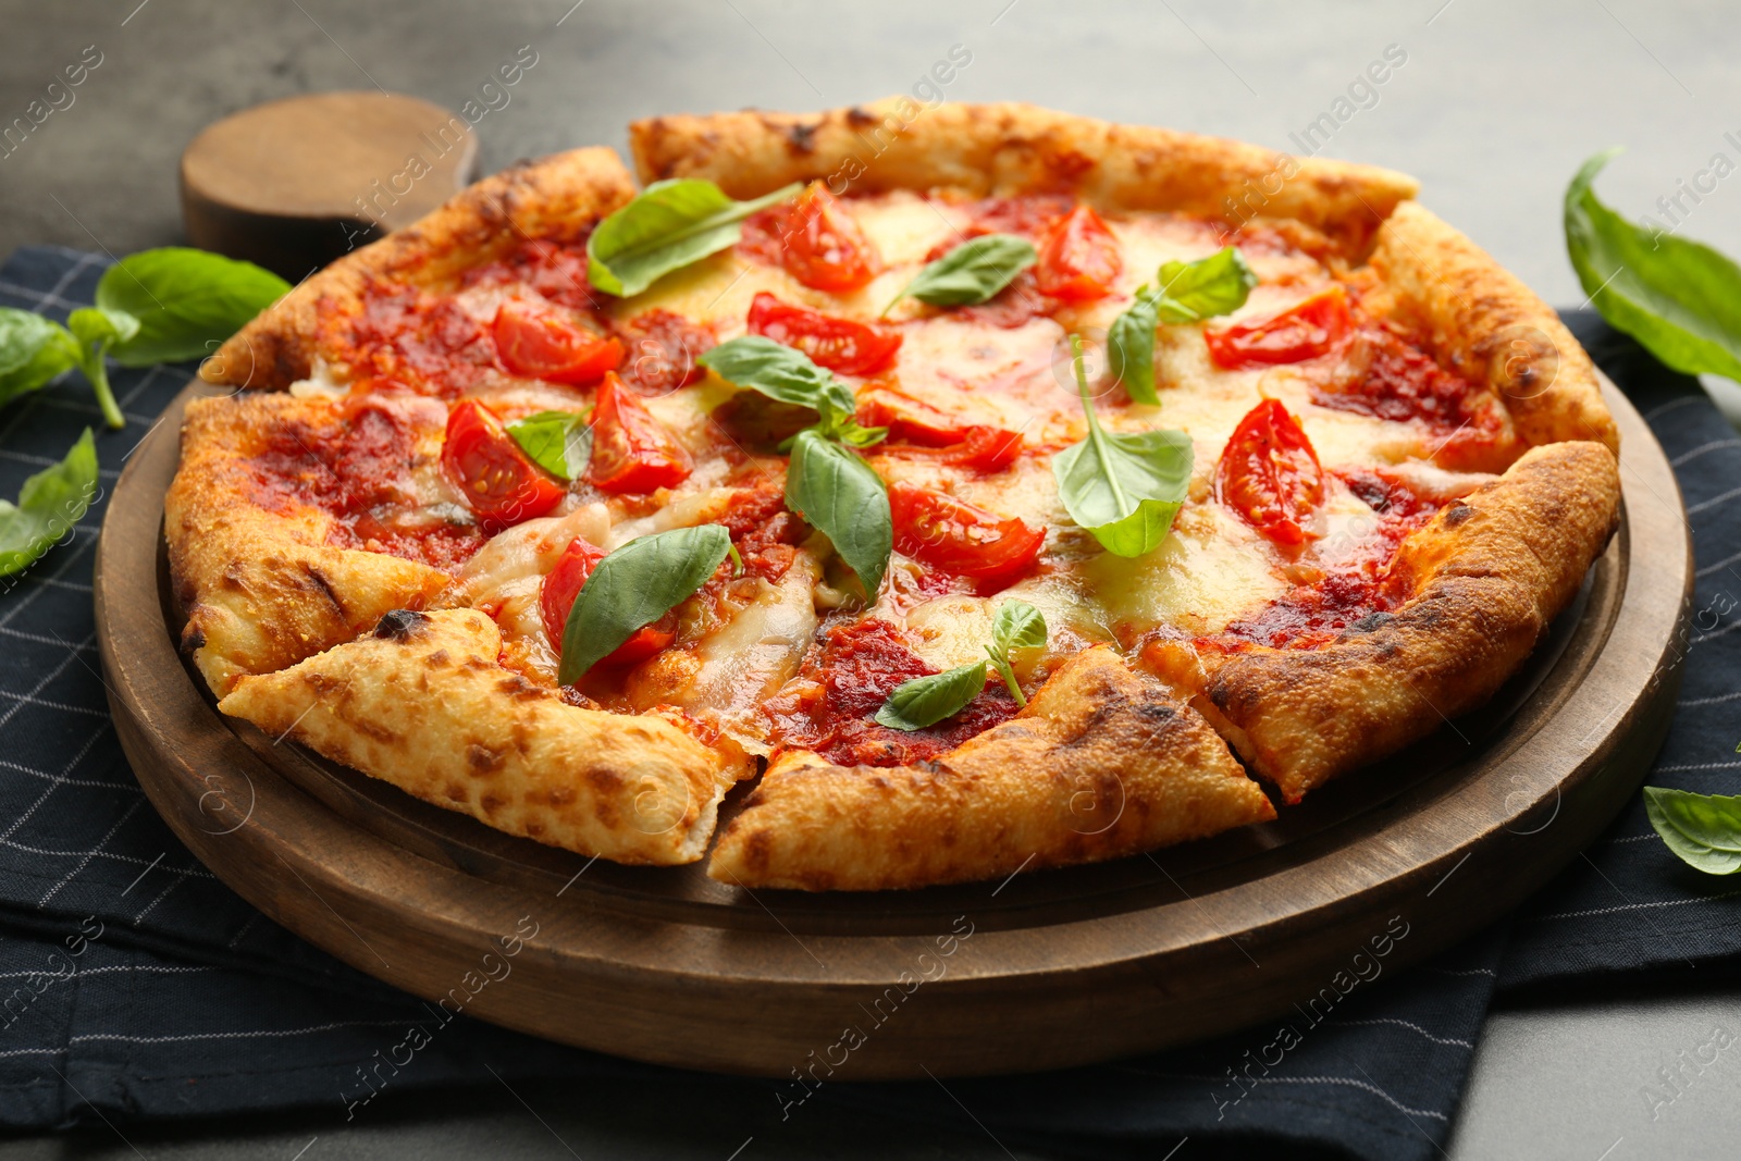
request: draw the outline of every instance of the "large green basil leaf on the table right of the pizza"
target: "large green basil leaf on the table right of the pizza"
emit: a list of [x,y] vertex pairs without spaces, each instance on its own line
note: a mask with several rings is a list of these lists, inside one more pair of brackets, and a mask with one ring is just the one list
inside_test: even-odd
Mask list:
[[1596,153],[1565,190],[1565,249],[1590,301],[1675,371],[1741,379],[1741,268],[1708,245],[1637,226],[1591,183]]

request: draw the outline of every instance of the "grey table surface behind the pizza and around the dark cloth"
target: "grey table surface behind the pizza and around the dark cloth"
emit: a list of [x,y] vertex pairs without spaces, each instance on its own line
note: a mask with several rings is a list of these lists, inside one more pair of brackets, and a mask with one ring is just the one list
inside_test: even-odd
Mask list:
[[[64,64],[101,64],[23,148],[0,157],[0,254],[56,242],[115,254],[181,240],[176,158],[209,122],[322,89],[387,89],[458,108],[522,45],[538,54],[479,122],[481,171],[575,144],[623,146],[635,117],[811,110],[911,92],[952,45],[971,52],[947,99],[1027,99],[1301,151],[1301,134],[1388,47],[1407,59],[1323,153],[1421,178],[1422,200],[1548,301],[1579,305],[1560,197],[1590,153],[1626,144],[1603,197],[1664,230],[1741,254],[1741,71],[1734,5],[1647,0],[1410,0],[1260,5],[1205,0],[0,0],[0,122]],[[64,99],[63,99],[64,103]],[[1732,134],[1732,136],[1725,136]],[[1732,169],[1732,165],[1731,165]],[[1727,171],[1725,171],[1727,172]],[[1694,200],[1684,190],[1697,183]],[[1711,188],[1715,185],[1715,188]],[[1734,186],[1734,188],[1731,188]],[[1678,195],[1678,209],[1675,198]],[[1663,198],[1659,202],[1659,198]],[[1668,209],[1664,209],[1664,205]],[[1708,383],[1731,402],[1727,383]],[[1640,1090],[1741,994],[1579,992],[1496,1011],[1449,1156],[1734,1158],[1741,1065],[1673,1107]],[[346,1130],[331,1114],[0,1140],[23,1158],[1003,1158],[968,1116],[914,1128],[853,1114],[782,1124],[707,1090],[649,1100],[627,1086],[418,1097]],[[670,1112],[653,1114],[655,1109]],[[1187,1142],[1177,1154],[1187,1161]]]

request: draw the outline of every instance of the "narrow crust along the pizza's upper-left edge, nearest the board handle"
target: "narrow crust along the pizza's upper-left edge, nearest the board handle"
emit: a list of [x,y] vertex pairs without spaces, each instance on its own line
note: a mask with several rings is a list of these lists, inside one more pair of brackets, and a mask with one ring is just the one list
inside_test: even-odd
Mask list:
[[313,372],[322,317],[360,312],[371,282],[439,284],[528,238],[576,238],[634,195],[635,183],[615,150],[569,150],[510,165],[299,284],[219,346],[200,366],[200,378],[284,390]]

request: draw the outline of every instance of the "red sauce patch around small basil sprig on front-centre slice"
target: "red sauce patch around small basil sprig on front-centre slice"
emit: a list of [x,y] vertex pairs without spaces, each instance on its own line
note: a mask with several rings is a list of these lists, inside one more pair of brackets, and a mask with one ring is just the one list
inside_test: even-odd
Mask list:
[[935,672],[888,621],[825,628],[822,648],[804,658],[808,689],[768,707],[775,738],[839,766],[905,766],[947,754],[1015,715],[1015,700],[994,677],[965,710],[926,729],[907,733],[872,721],[895,686]]

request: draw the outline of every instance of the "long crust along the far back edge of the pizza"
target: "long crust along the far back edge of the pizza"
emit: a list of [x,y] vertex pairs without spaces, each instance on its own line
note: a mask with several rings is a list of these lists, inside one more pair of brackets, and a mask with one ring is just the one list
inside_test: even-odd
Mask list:
[[924,108],[909,97],[825,113],[655,117],[629,125],[642,181],[705,178],[738,198],[790,181],[834,193],[1076,193],[1102,211],[1292,218],[1361,251],[1414,178],[1349,162],[1036,104]]

